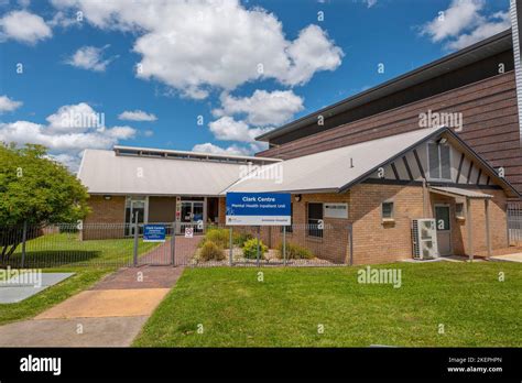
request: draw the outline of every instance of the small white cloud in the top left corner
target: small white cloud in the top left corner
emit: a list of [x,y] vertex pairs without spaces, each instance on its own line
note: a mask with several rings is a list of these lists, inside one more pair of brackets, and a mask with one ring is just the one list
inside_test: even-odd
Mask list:
[[52,35],[45,21],[28,11],[12,11],[0,19],[0,42],[15,40],[34,45]]

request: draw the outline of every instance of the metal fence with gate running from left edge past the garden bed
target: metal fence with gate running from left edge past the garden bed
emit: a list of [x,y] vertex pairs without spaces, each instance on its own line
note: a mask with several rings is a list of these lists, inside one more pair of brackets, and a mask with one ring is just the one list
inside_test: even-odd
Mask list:
[[0,227],[0,266],[338,266],[351,263],[344,225],[229,227],[153,223],[165,240],[143,240],[143,223]]

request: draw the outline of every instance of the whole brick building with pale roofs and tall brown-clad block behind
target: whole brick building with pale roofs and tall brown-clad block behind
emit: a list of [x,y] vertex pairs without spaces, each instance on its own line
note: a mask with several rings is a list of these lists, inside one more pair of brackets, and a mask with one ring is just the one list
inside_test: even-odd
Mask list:
[[[507,205],[522,190],[518,36],[502,32],[265,133],[258,140],[269,149],[255,157],[86,151],[86,222],[130,223],[138,214],[140,222],[225,225],[227,192],[281,192],[293,200],[289,239],[334,262],[411,258],[422,218],[442,222],[439,255],[505,248]],[[263,177],[271,168],[282,178]],[[278,228],[261,234],[281,240]]]

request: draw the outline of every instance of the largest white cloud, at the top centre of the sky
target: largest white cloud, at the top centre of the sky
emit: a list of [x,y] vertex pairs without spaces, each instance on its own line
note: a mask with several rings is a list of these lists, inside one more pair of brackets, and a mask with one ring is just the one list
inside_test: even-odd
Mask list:
[[138,35],[137,76],[191,98],[264,78],[301,85],[341,64],[342,51],[319,26],[308,25],[289,41],[273,13],[238,0],[52,2],[58,11],[81,10],[97,28]]

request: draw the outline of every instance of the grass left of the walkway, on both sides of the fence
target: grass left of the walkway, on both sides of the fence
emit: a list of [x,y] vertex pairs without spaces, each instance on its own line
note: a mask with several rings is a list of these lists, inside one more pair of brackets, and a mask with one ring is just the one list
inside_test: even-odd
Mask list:
[[[144,254],[159,243],[142,242],[139,254]],[[118,265],[132,262],[132,239],[79,241],[76,233],[47,234],[28,241],[26,260],[31,267],[46,267],[45,272],[76,273],[32,297],[15,304],[0,304],[0,325],[32,318],[47,308],[90,287],[102,276],[115,272]],[[13,254],[19,263],[20,250]],[[57,262],[63,263],[56,266]],[[81,264],[83,266],[79,266]]]

